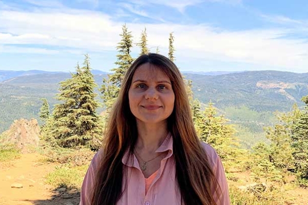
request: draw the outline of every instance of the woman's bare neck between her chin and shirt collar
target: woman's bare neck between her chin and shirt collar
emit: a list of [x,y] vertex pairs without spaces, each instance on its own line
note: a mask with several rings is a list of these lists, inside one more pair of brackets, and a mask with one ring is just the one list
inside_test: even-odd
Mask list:
[[168,134],[167,122],[146,124],[137,120],[138,138],[135,149],[142,153],[155,153]]

